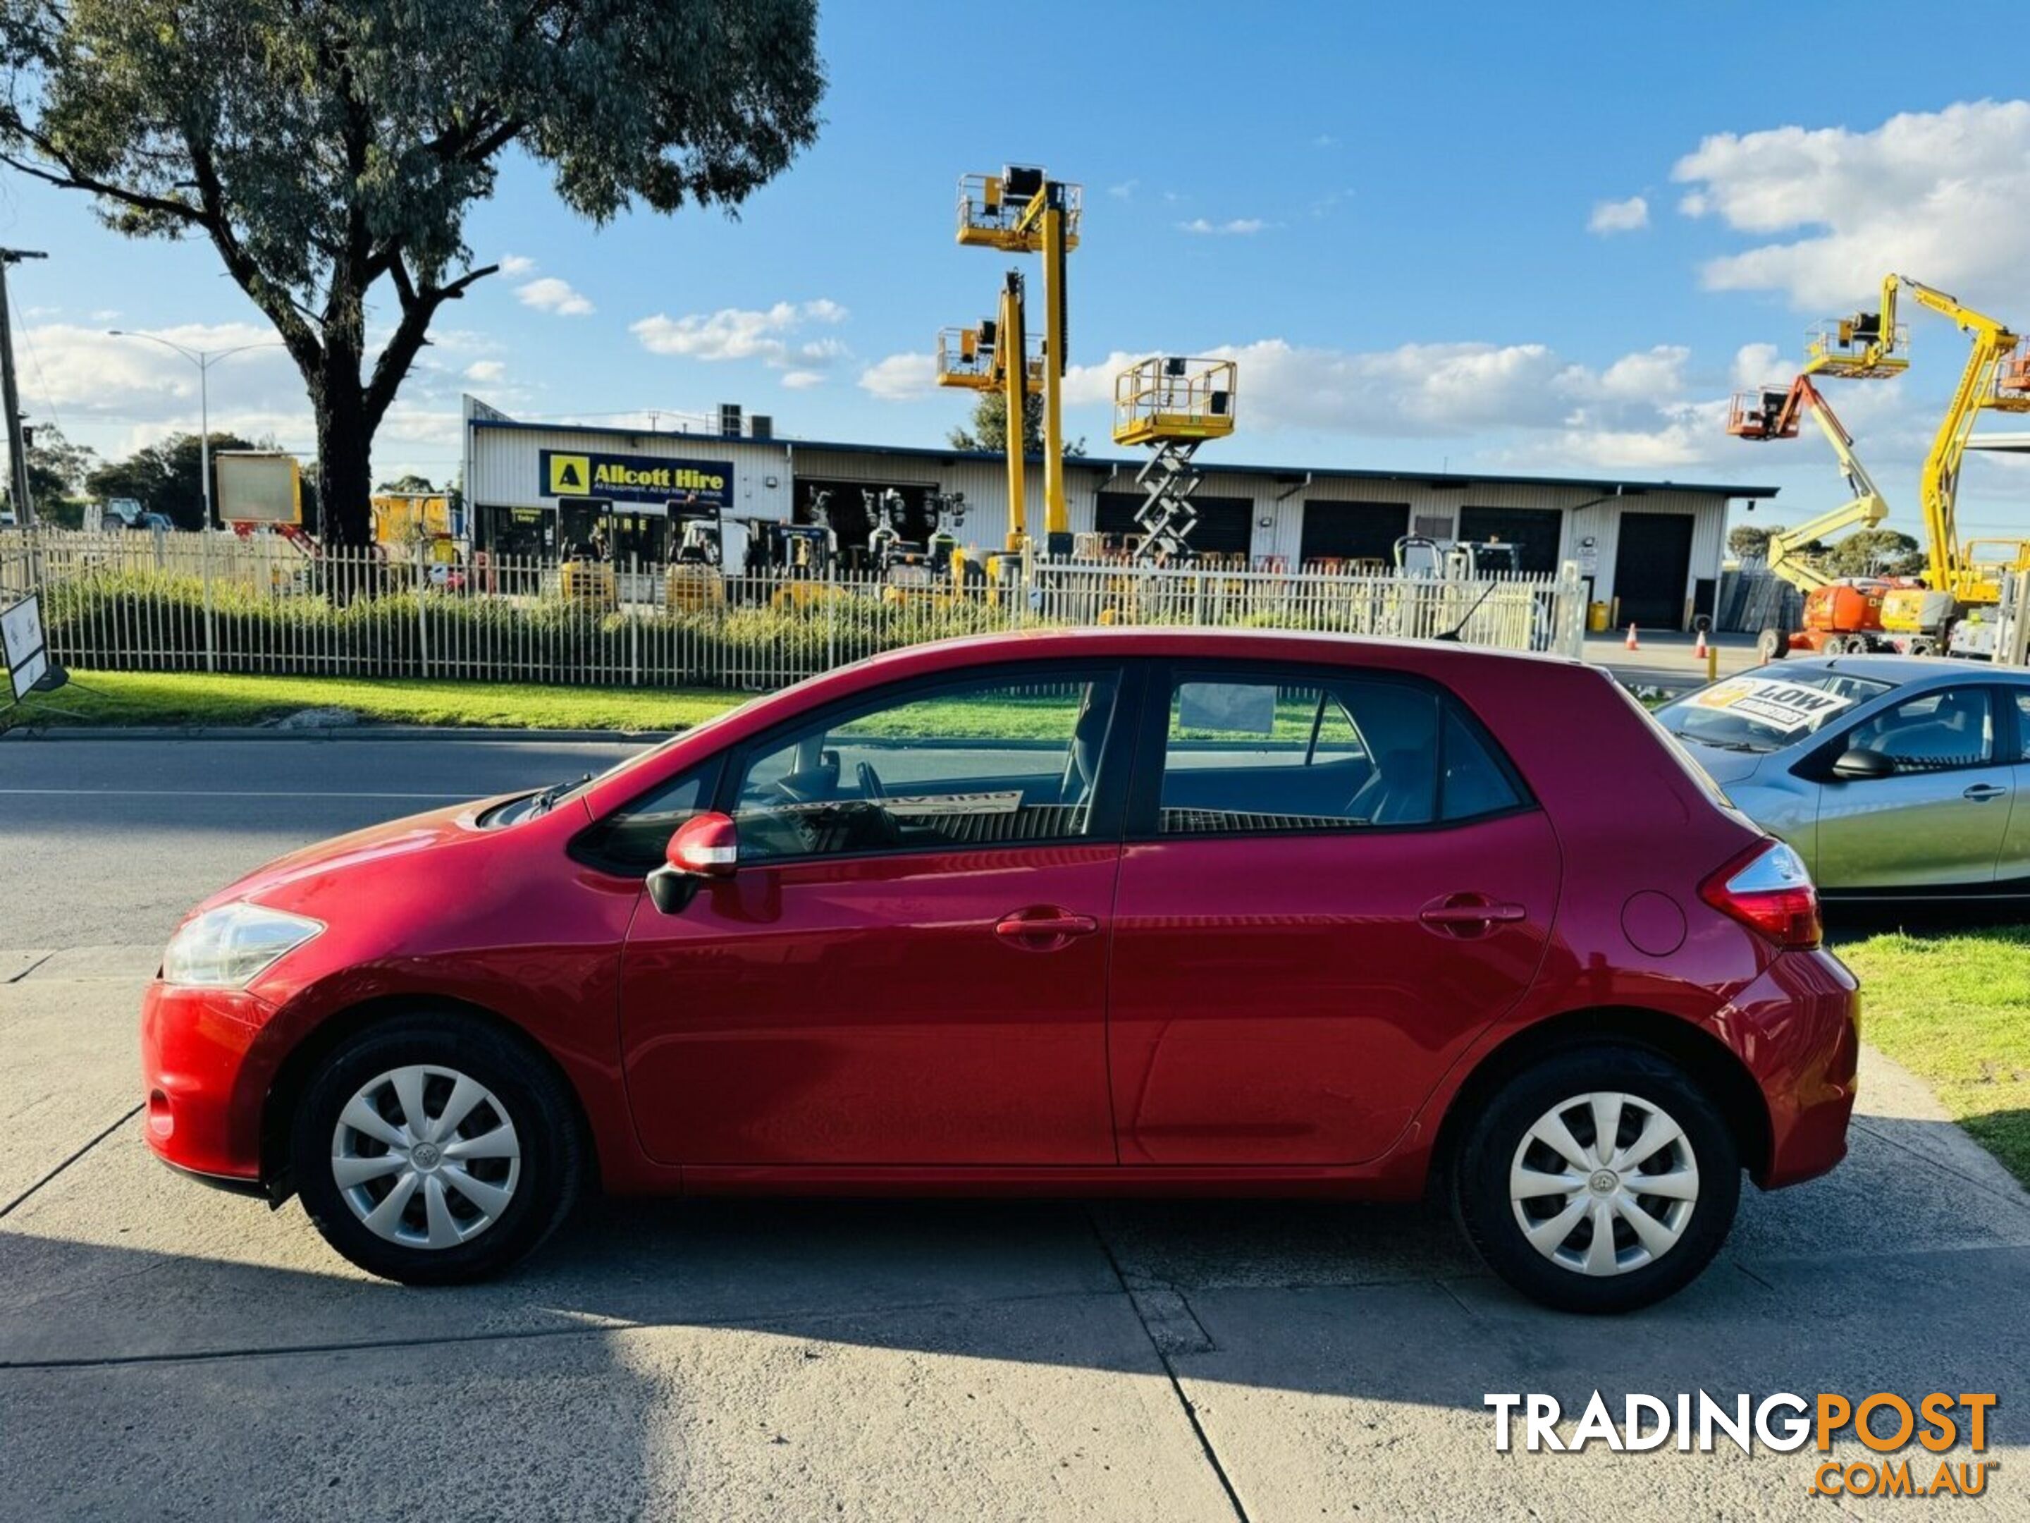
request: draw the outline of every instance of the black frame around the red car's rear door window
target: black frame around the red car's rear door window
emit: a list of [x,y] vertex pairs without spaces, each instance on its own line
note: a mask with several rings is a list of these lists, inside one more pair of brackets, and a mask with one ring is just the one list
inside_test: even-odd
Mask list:
[[[1409,672],[1391,672],[1382,668],[1366,666],[1324,666],[1315,662],[1269,662],[1269,660],[1246,660],[1246,658],[1206,658],[1206,660],[1175,660],[1175,658],[1151,658],[1145,662],[1147,672],[1143,678],[1143,699],[1141,699],[1141,721],[1135,725],[1135,776],[1127,800],[1125,818],[1125,839],[1135,843],[1157,843],[1157,841],[1246,841],[1246,839],[1311,839],[1317,835],[1332,837],[1362,837],[1362,835],[1415,835],[1421,831],[1458,831],[1470,824],[1482,824],[1486,820],[1506,818],[1508,814],[1527,814],[1541,808],[1537,794],[1531,792],[1529,782],[1516,772],[1508,749],[1494,739],[1486,725],[1480,723],[1480,715],[1466,707],[1464,701],[1443,682],[1435,682],[1425,676],[1415,676]],[[1433,818],[1423,824],[1372,824],[1362,831],[1163,831],[1161,810],[1163,810],[1163,762],[1169,743],[1169,705],[1171,694],[1179,674],[1218,674],[1236,680],[1271,680],[1279,686],[1283,684],[1317,684],[1319,688],[1330,688],[1334,682],[1386,682],[1395,686],[1415,688],[1419,692],[1429,692],[1437,701],[1437,723],[1433,735],[1433,764],[1439,770],[1437,776],[1437,796]],[[1445,790],[1443,790],[1443,768],[1445,768],[1445,719],[1458,719],[1486,751],[1488,759],[1500,770],[1502,778],[1508,782],[1516,796],[1516,802],[1508,808],[1490,810],[1486,814],[1474,814],[1468,818],[1445,818]],[[1119,729],[1119,725],[1116,725]],[[1307,753],[1309,757],[1309,753]]]

